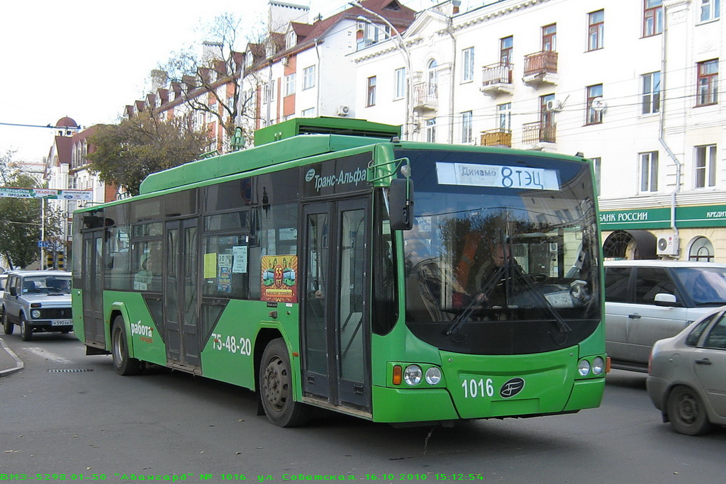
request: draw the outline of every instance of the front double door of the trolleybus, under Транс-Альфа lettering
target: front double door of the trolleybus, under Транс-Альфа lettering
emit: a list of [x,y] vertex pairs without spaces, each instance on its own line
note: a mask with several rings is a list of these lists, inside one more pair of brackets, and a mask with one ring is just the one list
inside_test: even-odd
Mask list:
[[370,412],[368,199],[304,208],[303,392]]

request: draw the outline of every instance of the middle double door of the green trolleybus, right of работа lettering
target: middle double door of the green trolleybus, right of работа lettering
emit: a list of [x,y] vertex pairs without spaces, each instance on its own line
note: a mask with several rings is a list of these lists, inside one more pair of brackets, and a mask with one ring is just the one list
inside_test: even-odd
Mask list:
[[200,343],[197,316],[197,220],[166,222],[164,244],[164,332],[169,366],[197,371]]

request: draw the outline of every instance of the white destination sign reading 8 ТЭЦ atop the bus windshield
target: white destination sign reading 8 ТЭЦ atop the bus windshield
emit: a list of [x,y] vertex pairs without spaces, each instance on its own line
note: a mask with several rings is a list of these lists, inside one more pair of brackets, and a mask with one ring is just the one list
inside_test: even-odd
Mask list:
[[559,190],[557,170],[523,166],[474,165],[436,162],[439,184],[496,186],[531,190]]

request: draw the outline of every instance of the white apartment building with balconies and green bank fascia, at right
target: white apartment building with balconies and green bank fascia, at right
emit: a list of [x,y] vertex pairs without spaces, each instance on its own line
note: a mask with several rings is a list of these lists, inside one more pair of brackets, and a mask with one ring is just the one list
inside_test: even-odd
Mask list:
[[726,262],[718,0],[459,3],[348,54],[356,117],[409,118],[420,141],[582,153],[606,257]]

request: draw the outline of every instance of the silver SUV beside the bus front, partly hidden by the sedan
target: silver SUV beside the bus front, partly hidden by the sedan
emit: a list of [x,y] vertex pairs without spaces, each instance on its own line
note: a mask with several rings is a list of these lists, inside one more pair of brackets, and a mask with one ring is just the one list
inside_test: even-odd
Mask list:
[[726,305],[726,265],[605,261],[605,346],[613,368],[645,372],[657,340]]

